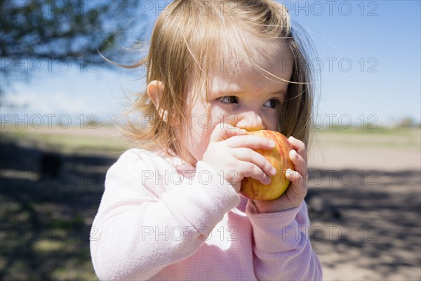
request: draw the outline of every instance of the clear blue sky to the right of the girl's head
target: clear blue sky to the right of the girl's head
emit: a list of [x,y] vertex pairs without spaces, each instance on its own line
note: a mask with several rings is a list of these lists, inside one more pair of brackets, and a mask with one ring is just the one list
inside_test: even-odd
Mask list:
[[[321,3],[320,16],[312,4],[308,15],[297,4],[291,11],[326,60],[319,113],[348,113],[355,123],[361,115],[372,115],[367,122],[375,115],[382,124],[401,117],[420,122],[420,1],[342,1],[331,13],[328,2]],[[352,62],[349,72],[347,62]]]

